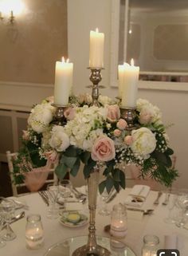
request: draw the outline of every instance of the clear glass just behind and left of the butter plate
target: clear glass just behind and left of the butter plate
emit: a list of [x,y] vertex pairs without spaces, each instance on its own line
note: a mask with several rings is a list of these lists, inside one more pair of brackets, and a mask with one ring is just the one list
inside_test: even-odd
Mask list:
[[49,219],[57,219],[59,215],[59,206],[57,204],[58,186],[49,184],[47,186],[47,193],[49,198],[49,209],[47,217]]

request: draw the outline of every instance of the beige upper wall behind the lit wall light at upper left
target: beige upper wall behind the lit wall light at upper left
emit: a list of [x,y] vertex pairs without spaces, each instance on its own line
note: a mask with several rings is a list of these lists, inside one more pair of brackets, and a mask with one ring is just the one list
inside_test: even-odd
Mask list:
[[55,61],[67,56],[67,0],[23,3],[13,25],[0,20],[0,81],[53,83]]

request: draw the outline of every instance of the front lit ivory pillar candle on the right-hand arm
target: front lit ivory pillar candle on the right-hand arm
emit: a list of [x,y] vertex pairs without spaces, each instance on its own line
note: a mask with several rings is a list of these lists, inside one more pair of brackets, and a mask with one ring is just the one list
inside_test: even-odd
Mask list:
[[[120,74],[121,77],[121,74]],[[131,65],[127,65],[124,69],[123,84],[121,85],[122,102],[121,105],[127,108],[135,108],[139,81],[139,67],[134,66],[131,59]]]

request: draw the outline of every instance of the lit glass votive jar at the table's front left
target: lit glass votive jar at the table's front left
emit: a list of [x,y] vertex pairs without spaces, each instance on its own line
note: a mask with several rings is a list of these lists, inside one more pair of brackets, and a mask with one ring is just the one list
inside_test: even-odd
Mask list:
[[41,215],[28,215],[25,226],[25,242],[29,249],[38,249],[44,243],[44,230]]

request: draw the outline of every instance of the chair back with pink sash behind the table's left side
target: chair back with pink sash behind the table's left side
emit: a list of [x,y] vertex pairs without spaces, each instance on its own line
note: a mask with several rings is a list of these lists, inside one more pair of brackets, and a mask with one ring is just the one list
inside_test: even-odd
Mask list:
[[[8,161],[8,167],[10,171],[10,180],[11,180],[11,185],[12,185],[12,191],[14,196],[18,196],[21,194],[19,192],[21,187],[27,187],[30,191],[37,191],[42,187],[44,184],[48,183],[54,183],[57,184],[57,175],[55,174],[55,164],[50,163],[48,166],[48,169],[44,169],[45,167],[39,167],[39,168],[34,168],[33,171],[29,171],[25,173],[25,179],[22,183],[15,183],[15,176],[20,176],[20,174],[14,173],[14,164],[13,160],[16,160],[18,157],[18,152],[6,152],[6,158]],[[34,176],[32,175],[32,172],[34,172]],[[42,177],[41,177],[42,175]],[[50,178],[48,178],[50,176]],[[38,179],[44,179],[44,183],[42,183],[42,186],[38,185]],[[34,184],[36,183],[36,184]],[[32,187],[35,187],[32,189]]]

